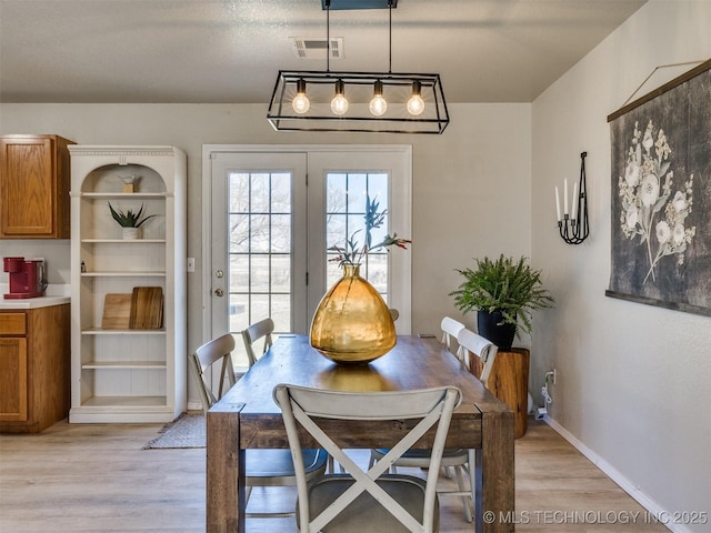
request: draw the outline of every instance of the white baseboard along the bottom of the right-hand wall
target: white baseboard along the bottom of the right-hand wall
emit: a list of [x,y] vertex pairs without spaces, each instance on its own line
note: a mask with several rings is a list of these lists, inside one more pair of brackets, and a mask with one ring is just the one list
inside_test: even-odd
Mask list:
[[[575,450],[582,453],[588,460],[594,464],[598,469],[600,469],[608,477],[610,477],[614,483],[617,483],[620,489],[627,492],[632,499],[634,499],[642,507],[647,510],[649,513],[649,522],[654,520],[659,521],[664,527],[673,533],[692,533],[692,531],[683,524],[673,524],[670,523],[673,520],[674,513],[667,511],[664,507],[659,505],[654,500],[649,497],[644,492],[640,491],[634,483],[632,483],[628,477],[625,477],[619,470],[608,463],[604,459],[598,455],[595,452],[585,446],[582,442],[580,442],[571,432],[569,432],[565,428],[560,425],[554,419],[551,419],[550,415],[543,416],[543,422],[550,425],[553,431],[555,431],[560,436],[565,439]],[[649,523],[648,522],[648,523]]]

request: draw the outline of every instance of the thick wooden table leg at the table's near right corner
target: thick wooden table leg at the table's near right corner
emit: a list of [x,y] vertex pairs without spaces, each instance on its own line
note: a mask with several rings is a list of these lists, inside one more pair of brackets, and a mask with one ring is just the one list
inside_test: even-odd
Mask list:
[[482,446],[475,451],[474,531],[514,531],[514,424],[511,411],[482,413]]

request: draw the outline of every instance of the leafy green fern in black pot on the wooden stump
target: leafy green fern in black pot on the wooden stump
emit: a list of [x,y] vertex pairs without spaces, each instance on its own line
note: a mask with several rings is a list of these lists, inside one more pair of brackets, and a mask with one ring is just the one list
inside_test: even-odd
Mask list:
[[464,314],[478,311],[479,334],[508,350],[521,330],[531,333],[531,311],[552,308],[553,299],[541,285],[541,272],[523,257],[474,261],[475,269],[458,270],[464,281],[450,295]]

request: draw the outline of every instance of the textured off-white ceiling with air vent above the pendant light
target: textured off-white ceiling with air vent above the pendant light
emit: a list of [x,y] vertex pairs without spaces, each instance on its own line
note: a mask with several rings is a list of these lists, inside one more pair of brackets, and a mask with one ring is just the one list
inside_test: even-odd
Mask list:
[[[392,71],[450,102],[530,102],[647,0],[399,0]],[[0,0],[0,101],[264,103],[326,37],[320,0]],[[333,71],[388,71],[388,10],[331,11]]]

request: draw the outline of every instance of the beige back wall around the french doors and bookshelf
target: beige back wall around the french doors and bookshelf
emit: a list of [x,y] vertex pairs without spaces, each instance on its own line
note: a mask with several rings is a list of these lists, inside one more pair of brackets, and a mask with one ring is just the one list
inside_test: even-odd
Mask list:
[[[266,105],[0,104],[0,132],[57,133],[81,144],[173,144],[188,153],[188,348],[202,341],[202,144],[412,144],[412,331],[458,315],[455,268],[482,254],[530,255],[530,104],[452,104],[442,135],[276,132]],[[50,283],[69,283],[69,241],[0,241],[0,257],[48,259]],[[0,274],[1,275],[1,274]],[[469,318],[468,318],[469,321]],[[473,322],[471,322],[473,325]],[[190,383],[192,388],[192,383]],[[197,395],[190,394],[197,399]]]

